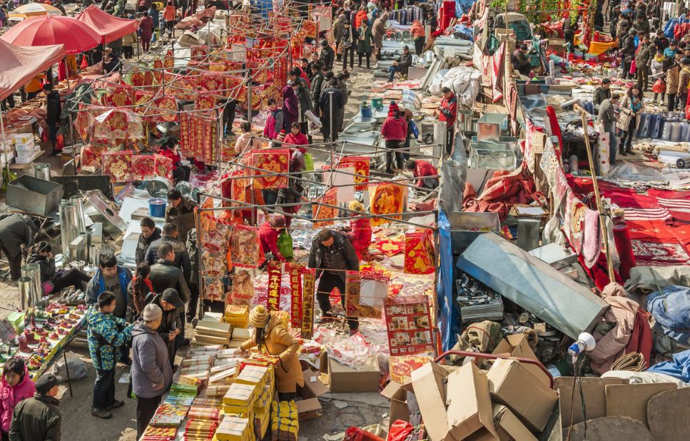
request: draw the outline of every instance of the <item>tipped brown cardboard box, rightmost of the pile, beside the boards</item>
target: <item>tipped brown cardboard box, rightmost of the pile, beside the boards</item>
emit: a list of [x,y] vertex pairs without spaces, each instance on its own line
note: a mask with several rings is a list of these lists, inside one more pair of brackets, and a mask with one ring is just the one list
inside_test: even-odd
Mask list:
[[544,430],[558,400],[554,390],[517,360],[496,360],[487,377],[494,402],[510,407],[530,430]]

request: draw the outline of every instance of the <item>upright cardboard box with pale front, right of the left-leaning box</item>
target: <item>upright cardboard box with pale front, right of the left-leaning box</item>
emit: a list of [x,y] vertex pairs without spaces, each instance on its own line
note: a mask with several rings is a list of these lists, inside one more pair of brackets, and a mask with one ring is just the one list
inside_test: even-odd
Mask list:
[[[474,363],[460,367],[448,377],[448,435],[446,440],[497,440],[489,396],[489,380]],[[425,420],[425,427],[428,426]]]

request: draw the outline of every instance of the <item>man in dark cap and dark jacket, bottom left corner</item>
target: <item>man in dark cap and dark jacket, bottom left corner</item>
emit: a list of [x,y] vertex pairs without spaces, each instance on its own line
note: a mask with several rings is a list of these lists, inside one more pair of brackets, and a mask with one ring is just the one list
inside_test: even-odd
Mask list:
[[58,378],[44,374],[36,380],[33,397],[21,400],[14,408],[9,427],[10,440],[60,440],[61,420],[58,406]]

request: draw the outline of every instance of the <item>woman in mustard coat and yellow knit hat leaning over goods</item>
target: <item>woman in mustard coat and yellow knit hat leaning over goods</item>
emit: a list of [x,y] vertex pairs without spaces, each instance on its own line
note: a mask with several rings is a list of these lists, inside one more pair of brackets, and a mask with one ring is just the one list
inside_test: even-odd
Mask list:
[[251,348],[257,348],[260,353],[280,358],[275,368],[278,398],[280,401],[293,400],[297,386],[304,386],[298,358],[300,343],[290,335],[280,316],[270,313],[264,305],[257,305],[251,310],[249,325],[254,328],[252,338],[242,343],[235,353],[247,353]]

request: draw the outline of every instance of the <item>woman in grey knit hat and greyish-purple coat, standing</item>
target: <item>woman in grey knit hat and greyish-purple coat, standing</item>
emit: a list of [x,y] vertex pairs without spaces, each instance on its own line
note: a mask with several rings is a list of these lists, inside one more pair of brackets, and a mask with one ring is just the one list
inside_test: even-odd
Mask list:
[[163,310],[156,303],[149,303],[143,308],[141,318],[143,321],[137,322],[132,330],[131,379],[132,392],[136,395],[137,440],[161,404],[163,393],[173,384],[168,341],[158,332],[165,320]]

